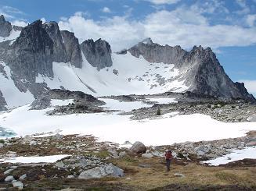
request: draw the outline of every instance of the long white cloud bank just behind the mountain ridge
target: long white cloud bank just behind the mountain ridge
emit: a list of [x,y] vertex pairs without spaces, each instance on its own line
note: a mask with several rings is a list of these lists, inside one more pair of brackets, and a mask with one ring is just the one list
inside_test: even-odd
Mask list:
[[217,49],[256,43],[256,27],[225,24],[212,26],[197,9],[185,6],[173,11],[153,12],[140,21],[128,15],[96,21],[76,13],[61,20],[59,27],[73,31],[79,41],[103,38],[110,42],[114,51],[129,48],[146,37],[151,37],[159,44],[179,44],[182,48],[201,44]]

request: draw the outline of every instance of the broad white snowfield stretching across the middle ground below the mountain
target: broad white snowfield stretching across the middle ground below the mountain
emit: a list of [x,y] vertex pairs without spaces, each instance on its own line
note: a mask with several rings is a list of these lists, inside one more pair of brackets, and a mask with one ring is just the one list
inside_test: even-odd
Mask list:
[[[110,99],[104,107],[106,106],[116,110],[131,110],[127,103]],[[27,104],[2,113],[0,126],[13,130],[17,136],[60,129],[64,135],[92,134],[99,141],[120,144],[127,140],[131,143],[139,140],[147,146],[234,138],[256,130],[256,122],[225,123],[200,114],[177,115],[175,112],[156,116],[151,120],[132,121],[128,115],[118,115],[119,112],[49,116],[45,112],[52,108],[39,111],[29,108],[30,105]]]

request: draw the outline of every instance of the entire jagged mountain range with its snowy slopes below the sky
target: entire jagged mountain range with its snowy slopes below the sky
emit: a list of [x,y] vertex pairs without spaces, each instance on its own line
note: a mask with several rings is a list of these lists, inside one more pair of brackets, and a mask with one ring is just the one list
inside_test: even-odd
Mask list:
[[[189,90],[215,97],[254,100],[243,83],[229,79],[211,48],[199,46],[185,51],[180,46],[155,44],[148,38],[115,54],[102,39],[79,44],[74,33],[59,30],[56,22],[37,20],[22,28],[12,26],[4,16],[0,16],[0,40],[0,109],[18,106],[10,104],[10,92],[13,100],[15,96],[16,99],[23,96],[21,104],[25,104],[49,88],[76,90],[76,87],[95,95],[143,94],[139,86],[146,86],[145,94]],[[137,66],[141,68],[138,71]],[[147,67],[151,68],[146,70]],[[64,73],[72,76],[70,81]],[[115,86],[118,80],[130,88]]]

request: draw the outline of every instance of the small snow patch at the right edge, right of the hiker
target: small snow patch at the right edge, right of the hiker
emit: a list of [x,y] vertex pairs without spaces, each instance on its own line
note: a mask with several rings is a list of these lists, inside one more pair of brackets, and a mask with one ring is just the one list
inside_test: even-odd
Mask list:
[[256,147],[246,147],[242,150],[233,150],[231,154],[226,154],[210,161],[204,161],[204,163],[218,166],[219,164],[228,164],[229,162],[243,160],[244,158],[256,158]]

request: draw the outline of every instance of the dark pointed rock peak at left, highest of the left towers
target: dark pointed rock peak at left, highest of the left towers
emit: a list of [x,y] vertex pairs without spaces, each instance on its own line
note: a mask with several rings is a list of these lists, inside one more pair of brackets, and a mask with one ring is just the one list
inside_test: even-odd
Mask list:
[[53,77],[53,42],[42,27],[41,20],[24,27],[2,59],[21,79],[34,81],[38,74]]

